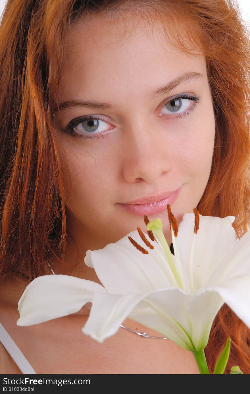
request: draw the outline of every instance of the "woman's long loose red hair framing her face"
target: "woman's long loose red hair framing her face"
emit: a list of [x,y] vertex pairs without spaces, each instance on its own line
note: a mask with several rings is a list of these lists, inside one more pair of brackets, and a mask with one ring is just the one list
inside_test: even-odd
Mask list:
[[[87,12],[131,12],[133,17],[153,16],[163,25],[173,22],[174,45],[191,53],[202,49],[216,135],[211,174],[197,208],[205,216],[235,216],[237,238],[248,230],[250,41],[237,3],[9,0],[0,26],[1,277],[15,274],[32,280],[44,275],[46,260],[56,257],[64,263],[70,236],[63,188],[67,163],[53,114],[67,32]],[[210,372],[229,336],[231,352],[225,373],[239,365],[249,374],[250,331],[226,304],[213,322],[205,349]]]

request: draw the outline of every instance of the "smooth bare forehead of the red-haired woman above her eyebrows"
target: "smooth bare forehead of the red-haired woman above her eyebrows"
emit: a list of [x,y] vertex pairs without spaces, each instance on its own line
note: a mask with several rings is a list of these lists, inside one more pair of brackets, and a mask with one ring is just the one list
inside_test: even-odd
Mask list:
[[[145,94],[150,98],[158,86],[184,72],[206,74],[204,56],[173,45],[171,30],[176,26],[164,28],[158,20],[149,23],[131,17],[91,16],[75,23],[67,41],[59,100],[90,99],[88,92],[107,102],[120,99],[119,92],[126,92],[126,98]],[[185,32],[179,33],[188,40]]]

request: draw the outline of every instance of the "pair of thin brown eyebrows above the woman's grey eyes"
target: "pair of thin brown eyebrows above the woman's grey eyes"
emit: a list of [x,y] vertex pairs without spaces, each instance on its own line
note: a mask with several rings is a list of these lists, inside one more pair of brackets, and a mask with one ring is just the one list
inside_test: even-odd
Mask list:
[[[185,72],[185,74],[178,76],[174,80],[170,81],[167,85],[157,89],[154,93],[152,93],[151,98],[156,99],[157,97],[166,95],[173,89],[176,89],[176,87],[178,87],[181,83],[189,82],[191,80],[196,80],[203,77],[204,74],[201,74],[200,72]],[[74,107],[88,107],[96,110],[114,110],[116,108],[115,106],[105,102],[69,100],[61,103],[55,110],[65,110]]]

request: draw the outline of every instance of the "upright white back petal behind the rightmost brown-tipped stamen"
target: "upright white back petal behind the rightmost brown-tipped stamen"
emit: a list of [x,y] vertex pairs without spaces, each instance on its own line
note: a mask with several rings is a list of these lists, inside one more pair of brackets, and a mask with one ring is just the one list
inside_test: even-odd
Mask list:
[[[235,245],[234,216],[213,217],[200,215],[200,225],[194,234],[194,213],[183,216],[178,231],[178,247],[184,277],[193,277],[194,292],[204,286],[220,261]],[[193,262],[190,265],[194,240]],[[192,286],[191,286],[192,287]]]

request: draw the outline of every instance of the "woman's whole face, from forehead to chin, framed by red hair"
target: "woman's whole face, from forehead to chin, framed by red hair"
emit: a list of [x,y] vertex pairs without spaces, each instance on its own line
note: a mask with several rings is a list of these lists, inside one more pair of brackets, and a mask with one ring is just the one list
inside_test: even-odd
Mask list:
[[[162,219],[170,243],[166,203],[180,223],[211,169],[215,120],[205,58],[172,46],[158,22],[86,20],[69,37],[56,115],[72,182],[65,172],[67,228],[78,245],[98,249],[137,227],[146,232],[147,214]],[[173,191],[165,203],[134,202]]]

